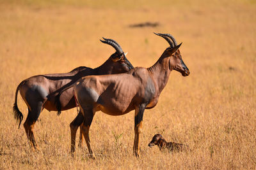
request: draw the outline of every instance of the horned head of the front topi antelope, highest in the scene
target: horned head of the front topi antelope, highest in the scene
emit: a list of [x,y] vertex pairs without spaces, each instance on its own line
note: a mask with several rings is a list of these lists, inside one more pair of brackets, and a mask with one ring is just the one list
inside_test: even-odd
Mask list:
[[[170,47],[168,47],[164,52],[166,53],[169,59],[169,69],[172,71],[173,69],[179,71],[182,76],[189,75],[189,69],[186,64],[183,62],[179,47],[182,43],[177,45],[177,41],[173,38],[170,34],[161,34],[161,33],[154,33],[157,36],[161,36],[169,43]],[[172,41],[171,41],[172,40]]]

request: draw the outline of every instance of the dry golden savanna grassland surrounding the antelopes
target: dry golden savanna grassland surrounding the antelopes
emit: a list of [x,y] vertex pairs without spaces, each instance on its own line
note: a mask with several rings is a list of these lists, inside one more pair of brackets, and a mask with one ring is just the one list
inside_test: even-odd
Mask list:
[[[0,169],[255,169],[255,13],[254,0],[1,0]],[[118,117],[96,113],[92,160],[85,143],[70,156],[69,124],[76,108],[60,116],[44,110],[34,129],[40,150],[31,150],[23,127],[28,109],[20,94],[20,129],[12,113],[20,81],[100,66],[115,52],[99,41],[102,36],[115,39],[134,67],[150,67],[168,47],[153,32],[182,42],[191,74],[172,71],[157,106],[145,110],[140,159],[132,153],[134,111]],[[149,148],[156,133],[189,145],[188,152]]]

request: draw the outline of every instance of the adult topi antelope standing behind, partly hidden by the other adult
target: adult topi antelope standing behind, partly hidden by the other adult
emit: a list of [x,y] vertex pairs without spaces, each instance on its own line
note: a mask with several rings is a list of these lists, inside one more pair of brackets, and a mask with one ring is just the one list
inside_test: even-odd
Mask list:
[[[59,96],[59,101],[56,101],[56,96],[61,90],[65,89],[65,87],[71,86],[83,76],[124,73],[133,68],[129,60],[126,59],[122,48],[118,43],[116,43],[116,41],[113,39],[103,39],[104,41],[100,41],[113,46],[116,52],[113,53],[101,66],[95,69],[90,67],[77,67],[69,73],[32,76],[31,78],[23,80],[18,85],[15,93],[15,102],[13,104],[14,118],[17,120],[20,127],[20,123],[23,119],[23,115],[17,106],[17,95],[18,91],[20,91],[22,99],[28,106],[28,117],[24,123],[24,128],[28,136],[29,143],[33,148],[36,149],[33,127],[44,108],[48,111],[61,111],[76,107],[73,87],[63,91]],[[61,110],[56,107],[56,103],[61,106]],[[60,112],[58,114],[60,114]],[[82,136],[80,136],[80,140],[82,139],[81,137]]]

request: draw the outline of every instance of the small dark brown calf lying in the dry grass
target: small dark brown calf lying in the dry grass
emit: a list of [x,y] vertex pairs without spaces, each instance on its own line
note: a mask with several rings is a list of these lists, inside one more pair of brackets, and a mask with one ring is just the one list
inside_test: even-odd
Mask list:
[[152,141],[148,143],[148,146],[152,148],[157,145],[160,150],[168,149],[169,152],[182,152],[188,150],[188,145],[182,143],[166,142],[161,134],[155,134],[152,138]]

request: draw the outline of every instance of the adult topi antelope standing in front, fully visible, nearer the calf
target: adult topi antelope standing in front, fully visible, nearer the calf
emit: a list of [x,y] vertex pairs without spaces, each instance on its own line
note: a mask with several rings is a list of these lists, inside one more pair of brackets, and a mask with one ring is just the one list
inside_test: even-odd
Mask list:
[[[90,144],[89,129],[96,111],[118,116],[135,110],[133,151],[134,155],[139,157],[144,110],[156,106],[173,69],[179,71],[182,76],[189,75],[189,69],[180,55],[181,43],[177,45],[170,34],[157,35],[166,39],[170,46],[164,50],[154,66],[135,67],[122,74],[86,76],[74,85],[74,94],[84,117],[81,131],[92,158],[95,158],[95,155]],[[71,136],[73,135],[71,134]]]

